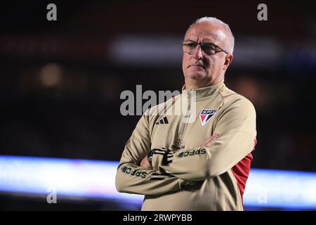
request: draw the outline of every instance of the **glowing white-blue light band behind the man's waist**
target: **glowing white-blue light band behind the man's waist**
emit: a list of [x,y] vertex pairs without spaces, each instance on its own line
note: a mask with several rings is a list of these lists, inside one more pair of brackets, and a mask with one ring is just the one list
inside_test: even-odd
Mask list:
[[[118,193],[118,162],[0,155],[0,192],[57,198],[100,198],[140,205],[143,195]],[[246,207],[316,209],[316,173],[251,169]]]

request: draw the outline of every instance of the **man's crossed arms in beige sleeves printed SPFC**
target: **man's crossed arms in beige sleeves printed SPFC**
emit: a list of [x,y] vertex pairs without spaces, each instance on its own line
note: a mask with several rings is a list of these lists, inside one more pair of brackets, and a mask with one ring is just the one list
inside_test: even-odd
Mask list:
[[177,152],[158,150],[151,168],[146,166],[151,147],[150,116],[144,114],[121,155],[115,179],[117,191],[141,195],[180,191],[183,186],[211,179],[234,167],[254,148],[254,106],[239,99],[225,108],[216,120],[213,134],[218,136],[212,135],[197,148]]

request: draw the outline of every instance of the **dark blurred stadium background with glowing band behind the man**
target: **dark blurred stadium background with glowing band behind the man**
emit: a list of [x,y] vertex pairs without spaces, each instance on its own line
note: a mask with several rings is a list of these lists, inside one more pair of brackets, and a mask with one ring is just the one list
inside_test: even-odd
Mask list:
[[[316,209],[312,1],[265,1],[263,22],[261,1],[52,1],[55,22],[49,3],[1,3],[0,210],[139,210],[141,196],[111,189],[139,119],[120,114],[119,96],[180,90],[180,41],[205,15],[235,34],[225,83],[257,111],[246,210]],[[65,188],[58,204],[48,184]]]

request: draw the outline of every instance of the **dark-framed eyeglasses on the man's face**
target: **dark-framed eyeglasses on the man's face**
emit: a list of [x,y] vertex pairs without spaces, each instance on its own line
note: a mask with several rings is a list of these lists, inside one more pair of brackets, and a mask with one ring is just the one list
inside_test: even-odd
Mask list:
[[226,54],[228,54],[227,51],[224,51],[219,46],[213,43],[197,43],[195,41],[182,41],[183,51],[190,55],[192,55],[195,52],[195,49],[197,48],[198,45],[201,46],[202,51],[206,53],[206,55],[209,55],[209,56],[215,53],[218,53],[220,51],[223,51]]

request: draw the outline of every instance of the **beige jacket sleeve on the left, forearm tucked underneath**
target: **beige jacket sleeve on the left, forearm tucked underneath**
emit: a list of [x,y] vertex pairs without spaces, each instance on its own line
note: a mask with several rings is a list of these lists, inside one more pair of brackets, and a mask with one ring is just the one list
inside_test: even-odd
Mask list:
[[140,195],[159,195],[178,191],[189,182],[171,174],[140,167],[140,162],[150,151],[149,118],[143,115],[131,135],[121,155],[117,168],[115,186],[117,191]]

